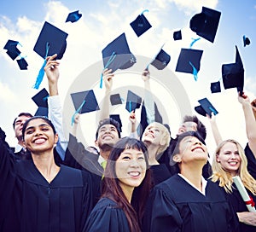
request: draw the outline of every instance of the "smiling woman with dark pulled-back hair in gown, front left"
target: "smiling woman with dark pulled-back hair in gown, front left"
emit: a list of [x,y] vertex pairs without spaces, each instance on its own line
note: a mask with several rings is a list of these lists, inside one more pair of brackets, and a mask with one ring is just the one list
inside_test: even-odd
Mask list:
[[32,155],[27,160],[11,156],[0,131],[0,230],[82,231],[95,183],[86,172],[55,164],[58,135],[51,121],[26,120],[22,137]]

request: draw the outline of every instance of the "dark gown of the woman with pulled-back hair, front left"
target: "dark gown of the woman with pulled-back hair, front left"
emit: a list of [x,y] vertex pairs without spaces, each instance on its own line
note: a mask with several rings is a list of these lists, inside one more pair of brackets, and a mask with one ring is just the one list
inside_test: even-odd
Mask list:
[[82,231],[95,196],[90,175],[61,165],[51,183],[0,138],[0,231]]

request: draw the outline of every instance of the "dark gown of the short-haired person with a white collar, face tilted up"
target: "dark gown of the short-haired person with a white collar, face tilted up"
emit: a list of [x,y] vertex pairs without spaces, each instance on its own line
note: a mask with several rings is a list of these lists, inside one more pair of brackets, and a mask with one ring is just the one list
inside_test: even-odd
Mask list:
[[143,231],[237,231],[238,218],[218,184],[207,182],[206,196],[175,175],[154,187]]

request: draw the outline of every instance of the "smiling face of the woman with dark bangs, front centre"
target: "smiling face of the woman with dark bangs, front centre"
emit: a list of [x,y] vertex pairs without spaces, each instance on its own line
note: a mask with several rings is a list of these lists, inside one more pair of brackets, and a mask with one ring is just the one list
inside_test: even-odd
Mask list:
[[116,160],[115,172],[121,188],[139,186],[146,174],[146,160],[141,150],[125,149]]

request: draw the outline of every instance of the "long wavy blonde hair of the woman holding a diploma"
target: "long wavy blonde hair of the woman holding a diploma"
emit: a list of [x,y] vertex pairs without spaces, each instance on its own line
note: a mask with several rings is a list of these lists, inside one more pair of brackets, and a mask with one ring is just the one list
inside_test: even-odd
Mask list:
[[220,187],[224,187],[227,193],[232,193],[232,183],[233,179],[231,174],[228,171],[224,171],[222,165],[217,161],[218,154],[220,153],[221,148],[228,143],[233,142],[236,144],[238,154],[241,157],[241,165],[237,171],[237,175],[241,178],[241,182],[244,186],[250,190],[254,195],[256,195],[256,180],[250,175],[247,171],[247,157],[244,153],[244,149],[241,148],[241,144],[236,142],[233,139],[227,139],[221,142],[215,150],[212,159],[212,182],[219,182]]

